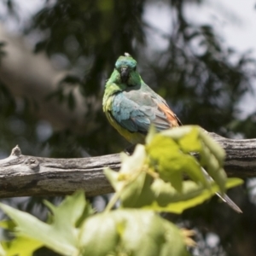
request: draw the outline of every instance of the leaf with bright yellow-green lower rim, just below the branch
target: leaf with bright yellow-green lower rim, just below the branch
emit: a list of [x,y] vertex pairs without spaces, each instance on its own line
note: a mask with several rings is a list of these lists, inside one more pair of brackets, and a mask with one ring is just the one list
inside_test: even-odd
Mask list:
[[[143,175],[143,174],[142,174]],[[226,189],[233,188],[242,183],[241,179],[230,178],[226,183]],[[129,189],[129,188],[127,188]],[[171,183],[166,183],[160,178],[153,181],[146,175],[140,193],[130,190],[120,195],[122,207],[150,209],[157,212],[173,212],[180,214],[184,210],[195,207],[209,200],[219,191],[216,183],[209,183],[208,187],[193,181],[183,181],[183,193],[173,188]]]

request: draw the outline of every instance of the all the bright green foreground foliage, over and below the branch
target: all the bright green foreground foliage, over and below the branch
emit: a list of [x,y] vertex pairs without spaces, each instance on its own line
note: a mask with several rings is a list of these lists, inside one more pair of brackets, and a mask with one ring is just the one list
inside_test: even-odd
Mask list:
[[[199,162],[191,150],[202,156]],[[17,231],[14,241],[3,242],[3,255],[32,255],[42,246],[61,255],[189,255],[186,245],[195,245],[189,238],[193,232],[178,229],[156,212],[181,213],[241,184],[237,178],[226,182],[223,162],[224,150],[200,127],[159,134],[151,129],[145,146],[137,145],[131,156],[122,154],[119,172],[105,170],[116,193],[102,213],[93,214],[83,191],[67,196],[59,207],[45,201],[53,214],[48,224],[0,204]],[[202,164],[214,181],[204,175]],[[191,180],[183,181],[183,175]],[[110,211],[118,199],[121,208]],[[6,222],[2,226],[14,230]]]

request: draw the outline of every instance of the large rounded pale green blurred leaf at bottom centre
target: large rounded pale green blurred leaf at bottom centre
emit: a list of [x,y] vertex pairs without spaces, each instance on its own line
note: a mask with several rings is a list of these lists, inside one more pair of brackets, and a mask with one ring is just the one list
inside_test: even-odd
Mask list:
[[116,210],[84,222],[79,236],[82,255],[186,256],[181,230],[156,213]]

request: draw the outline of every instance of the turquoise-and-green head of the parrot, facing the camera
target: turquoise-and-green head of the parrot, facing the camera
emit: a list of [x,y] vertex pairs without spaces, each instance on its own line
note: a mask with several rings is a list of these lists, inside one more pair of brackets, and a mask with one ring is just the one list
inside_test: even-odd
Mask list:
[[136,72],[137,61],[135,61],[131,55],[125,53],[124,56],[119,56],[119,59],[115,62],[115,69],[120,74],[120,79],[123,83],[126,83],[131,76],[131,73]]

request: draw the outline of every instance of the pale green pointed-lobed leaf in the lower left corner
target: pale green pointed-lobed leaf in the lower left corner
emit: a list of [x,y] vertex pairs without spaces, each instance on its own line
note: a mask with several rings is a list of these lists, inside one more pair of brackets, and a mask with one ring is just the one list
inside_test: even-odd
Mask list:
[[51,224],[45,224],[38,218],[9,206],[0,204],[0,207],[17,224],[19,236],[42,242],[45,246],[63,255],[77,253],[79,230],[76,225],[84,212],[88,214],[91,212],[90,210],[84,211],[86,207],[89,207],[84,200],[84,192],[79,191],[72,196],[67,196],[59,207],[49,202],[46,202],[46,205],[54,214]]

